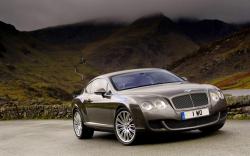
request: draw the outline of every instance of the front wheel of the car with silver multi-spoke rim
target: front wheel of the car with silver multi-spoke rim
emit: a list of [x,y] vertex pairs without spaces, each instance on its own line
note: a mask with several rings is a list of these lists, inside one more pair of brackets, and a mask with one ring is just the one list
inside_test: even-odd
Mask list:
[[114,121],[115,135],[123,145],[135,144],[136,127],[131,113],[126,108],[118,109]]

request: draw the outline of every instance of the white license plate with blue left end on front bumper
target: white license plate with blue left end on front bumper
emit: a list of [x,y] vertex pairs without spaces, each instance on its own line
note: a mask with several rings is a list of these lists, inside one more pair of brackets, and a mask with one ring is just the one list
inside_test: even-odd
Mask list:
[[192,111],[181,112],[181,119],[186,120],[186,119],[198,118],[198,117],[208,116],[208,115],[209,115],[208,108],[197,109],[197,110],[192,110]]

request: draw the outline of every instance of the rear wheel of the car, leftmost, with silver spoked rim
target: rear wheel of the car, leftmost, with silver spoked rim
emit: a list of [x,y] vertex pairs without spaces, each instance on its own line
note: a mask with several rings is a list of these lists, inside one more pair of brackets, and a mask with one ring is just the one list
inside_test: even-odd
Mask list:
[[78,139],[90,139],[94,135],[94,130],[83,124],[83,117],[78,109],[73,112],[73,129]]

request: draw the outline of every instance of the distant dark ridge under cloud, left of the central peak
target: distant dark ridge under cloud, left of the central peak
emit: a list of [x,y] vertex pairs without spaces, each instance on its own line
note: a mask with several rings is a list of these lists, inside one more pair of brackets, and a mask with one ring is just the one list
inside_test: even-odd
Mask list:
[[89,43],[103,39],[125,24],[115,22],[81,22],[30,32],[35,38],[53,44]]

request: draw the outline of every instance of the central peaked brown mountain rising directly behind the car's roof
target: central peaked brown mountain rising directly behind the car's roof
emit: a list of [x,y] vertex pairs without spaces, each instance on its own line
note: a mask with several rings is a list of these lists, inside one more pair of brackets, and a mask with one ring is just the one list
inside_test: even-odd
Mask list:
[[176,23],[163,15],[154,15],[138,19],[82,51],[90,65],[118,70],[165,67],[198,48]]

